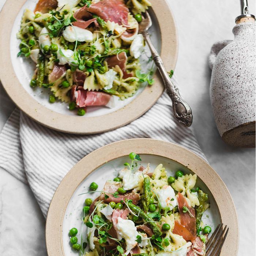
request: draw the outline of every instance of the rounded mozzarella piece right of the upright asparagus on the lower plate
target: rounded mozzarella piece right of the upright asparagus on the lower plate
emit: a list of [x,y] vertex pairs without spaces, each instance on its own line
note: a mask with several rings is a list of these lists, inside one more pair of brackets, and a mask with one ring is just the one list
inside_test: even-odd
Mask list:
[[163,209],[169,207],[172,210],[177,205],[177,199],[173,188],[169,185],[163,186],[157,193],[159,203]]

